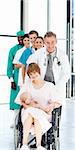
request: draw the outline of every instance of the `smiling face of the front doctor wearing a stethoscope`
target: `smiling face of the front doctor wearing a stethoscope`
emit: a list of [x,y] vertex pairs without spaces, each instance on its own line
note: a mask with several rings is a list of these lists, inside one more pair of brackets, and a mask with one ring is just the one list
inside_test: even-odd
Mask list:
[[57,40],[54,36],[45,37],[44,42],[49,53],[52,53],[56,49]]

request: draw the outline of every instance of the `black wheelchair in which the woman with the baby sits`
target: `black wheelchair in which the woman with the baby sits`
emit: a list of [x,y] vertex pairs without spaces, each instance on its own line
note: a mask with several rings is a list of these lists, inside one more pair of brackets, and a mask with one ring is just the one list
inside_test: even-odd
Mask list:
[[[14,127],[14,146],[15,150],[20,150],[22,146],[23,139],[23,126],[21,122],[21,110],[20,108],[19,114],[15,118],[15,127]],[[41,145],[45,147],[47,150],[59,150],[60,142],[59,142],[59,125],[61,118],[62,106],[59,108],[55,108],[52,111],[52,127],[42,136]],[[29,135],[28,146],[30,149],[34,150],[36,148],[36,137],[33,135]]]

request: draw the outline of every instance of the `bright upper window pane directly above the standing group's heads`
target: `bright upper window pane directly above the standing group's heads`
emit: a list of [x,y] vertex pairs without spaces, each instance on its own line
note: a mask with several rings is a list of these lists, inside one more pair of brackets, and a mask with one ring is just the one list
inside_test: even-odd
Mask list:
[[28,0],[28,31],[37,30],[40,35],[47,31],[47,0]]

